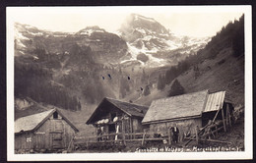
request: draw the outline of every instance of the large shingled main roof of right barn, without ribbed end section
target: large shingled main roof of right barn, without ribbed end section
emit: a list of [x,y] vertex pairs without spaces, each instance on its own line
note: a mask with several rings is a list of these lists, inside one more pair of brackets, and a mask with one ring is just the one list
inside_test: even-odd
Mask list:
[[200,117],[208,90],[154,100],[142,123]]

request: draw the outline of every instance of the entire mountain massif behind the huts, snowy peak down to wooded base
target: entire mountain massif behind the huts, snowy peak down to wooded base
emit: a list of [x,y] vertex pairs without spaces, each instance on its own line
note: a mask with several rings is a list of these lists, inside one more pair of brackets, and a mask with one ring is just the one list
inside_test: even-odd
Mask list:
[[176,36],[136,14],[116,33],[96,26],[61,32],[16,23],[15,95],[69,110],[105,96],[149,95],[160,73],[207,41]]

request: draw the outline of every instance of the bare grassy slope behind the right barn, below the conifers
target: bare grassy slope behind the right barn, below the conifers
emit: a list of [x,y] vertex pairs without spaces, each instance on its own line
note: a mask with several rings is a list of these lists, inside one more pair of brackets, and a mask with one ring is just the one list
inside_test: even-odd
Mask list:
[[[210,92],[225,90],[226,98],[234,105],[244,105],[244,58],[234,58],[230,48],[222,50],[215,59],[205,60],[198,64],[199,76],[193,67],[178,76],[176,79],[185,88],[185,92],[195,92],[209,89]],[[152,100],[164,98],[168,95],[170,84],[164,89],[157,88],[151,90],[148,96],[139,97],[130,95],[126,100],[150,105]]]

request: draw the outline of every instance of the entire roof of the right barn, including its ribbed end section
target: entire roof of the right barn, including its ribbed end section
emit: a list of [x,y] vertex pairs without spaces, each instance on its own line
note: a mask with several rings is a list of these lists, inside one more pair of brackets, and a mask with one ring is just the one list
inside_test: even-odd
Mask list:
[[203,112],[217,111],[224,105],[225,91],[208,90],[161,98],[152,102],[142,123],[156,123],[201,117]]

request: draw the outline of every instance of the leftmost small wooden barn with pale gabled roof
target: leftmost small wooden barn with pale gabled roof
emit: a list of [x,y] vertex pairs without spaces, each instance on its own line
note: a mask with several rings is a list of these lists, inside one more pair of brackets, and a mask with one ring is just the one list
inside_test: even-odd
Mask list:
[[79,130],[57,109],[15,121],[15,149],[67,148]]

